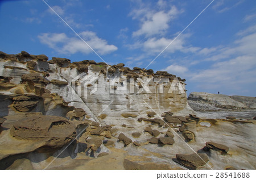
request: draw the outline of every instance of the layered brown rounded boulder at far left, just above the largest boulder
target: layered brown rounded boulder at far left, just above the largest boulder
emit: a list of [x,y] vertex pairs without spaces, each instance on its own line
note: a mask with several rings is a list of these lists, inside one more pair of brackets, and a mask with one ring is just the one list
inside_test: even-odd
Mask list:
[[28,112],[34,109],[41,97],[31,94],[24,94],[13,98],[13,107],[19,112]]

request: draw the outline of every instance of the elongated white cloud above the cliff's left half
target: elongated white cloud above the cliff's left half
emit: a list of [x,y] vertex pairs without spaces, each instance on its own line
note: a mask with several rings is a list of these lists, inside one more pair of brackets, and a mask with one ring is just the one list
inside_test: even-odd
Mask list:
[[[96,36],[95,32],[84,31],[80,33],[80,36],[93,48],[94,51],[101,55],[108,54],[118,49],[115,45],[109,45],[106,40]],[[77,52],[89,54],[92,52],[92,49],[90,49],[81,39],[68,37],[64,33],[44,33],[38,37],[41,43],[48,45],[48,47],[61,54],[74,54]]]

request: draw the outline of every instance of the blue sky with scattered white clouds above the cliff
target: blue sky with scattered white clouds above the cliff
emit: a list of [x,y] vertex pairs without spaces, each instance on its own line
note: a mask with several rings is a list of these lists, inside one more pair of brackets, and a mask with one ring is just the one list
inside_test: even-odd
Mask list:
[[[109,64],[146,68],[212,0],[47,1]],[[101,62],[41,0],[0,1],[0,51]],[[215,0],[147,69],[187,93],[256,96],[256,1]]]

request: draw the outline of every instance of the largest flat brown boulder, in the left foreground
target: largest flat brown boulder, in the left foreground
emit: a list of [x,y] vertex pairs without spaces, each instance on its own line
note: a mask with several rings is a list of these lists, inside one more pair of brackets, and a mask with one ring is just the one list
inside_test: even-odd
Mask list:
[[61,148],[75,139],[76,129],[65,118],[34,115],[14,123],[10,134],[19,140],[44,141],[46,146]]

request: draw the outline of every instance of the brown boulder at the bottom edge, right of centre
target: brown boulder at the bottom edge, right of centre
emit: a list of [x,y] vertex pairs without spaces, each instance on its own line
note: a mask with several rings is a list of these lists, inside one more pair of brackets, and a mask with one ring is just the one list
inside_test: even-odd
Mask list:
[[177,161],[188,169],[197,169],[199,166],[204,166],[209,161],[206,154],[176,154]]

